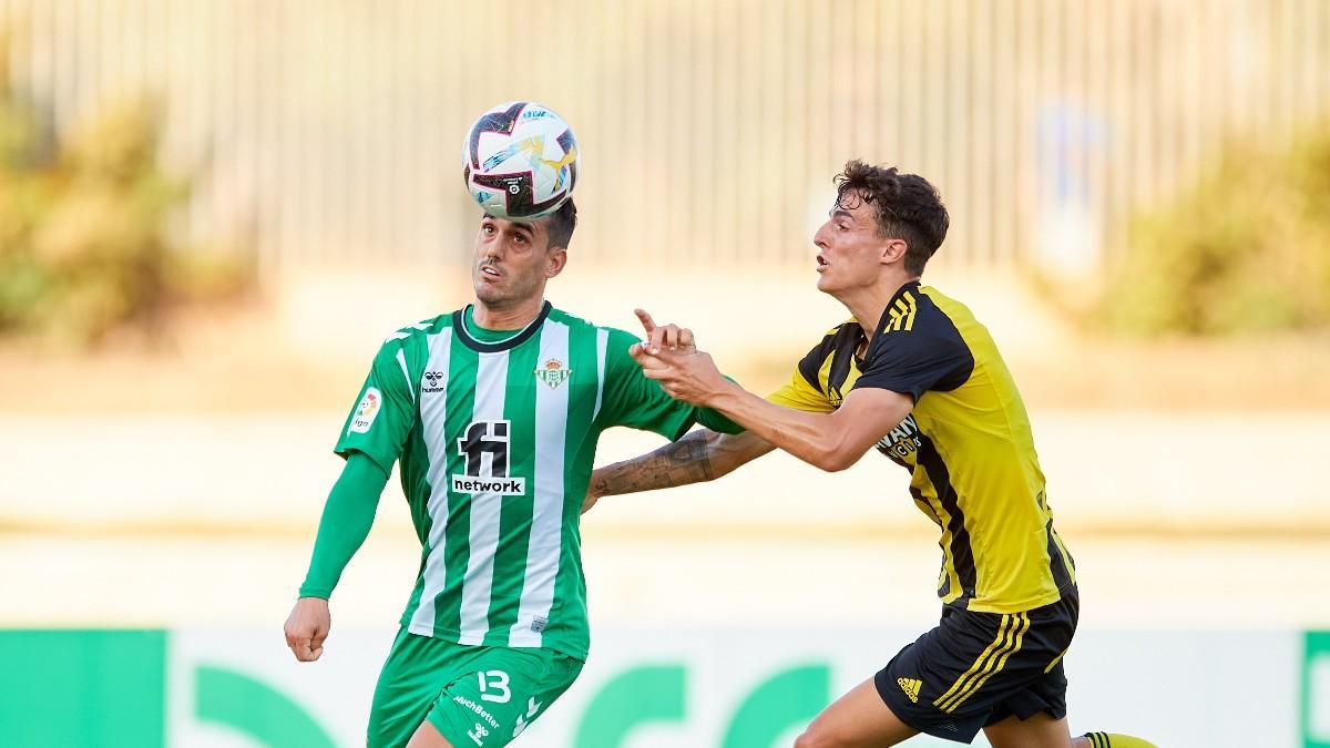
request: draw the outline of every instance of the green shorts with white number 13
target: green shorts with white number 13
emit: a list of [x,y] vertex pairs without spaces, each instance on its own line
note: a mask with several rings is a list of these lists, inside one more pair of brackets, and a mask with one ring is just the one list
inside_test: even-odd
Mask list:
[[500,748],[573,684],[583,663],[552,650],[392,642],[370,708],[367,745],[400,748],[426,719],[456,748]]

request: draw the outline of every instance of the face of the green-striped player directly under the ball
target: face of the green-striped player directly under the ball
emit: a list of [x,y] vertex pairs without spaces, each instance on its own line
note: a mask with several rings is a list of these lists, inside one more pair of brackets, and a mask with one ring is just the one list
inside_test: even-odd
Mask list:
[[485,216],[476,233],[471,283],[476,298],[488,306],[520,303],[544,293],[545,281],[557,272],[549,249],[548,221],[508,221]]

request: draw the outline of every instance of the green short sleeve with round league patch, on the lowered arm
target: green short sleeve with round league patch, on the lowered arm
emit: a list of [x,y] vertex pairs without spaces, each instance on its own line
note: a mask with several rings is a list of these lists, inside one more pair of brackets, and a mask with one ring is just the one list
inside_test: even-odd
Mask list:
[[390,338],[370,366],[334,451],[346,457],[352,450],[368,455],[384,472],[402,454],[415,423],[415,393],[411,387],[402,339]]

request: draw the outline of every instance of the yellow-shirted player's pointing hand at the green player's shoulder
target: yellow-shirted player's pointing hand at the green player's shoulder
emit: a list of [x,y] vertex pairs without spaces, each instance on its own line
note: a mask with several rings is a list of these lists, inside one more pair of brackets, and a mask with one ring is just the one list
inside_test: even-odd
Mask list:
[[708,407],[733,385],[721,375],[710,354],[697,350],[693,331],[677,325],[657,326],[652,315],[637,309],[646,341],[629,349],[648,379],[656,379],[669,397]]

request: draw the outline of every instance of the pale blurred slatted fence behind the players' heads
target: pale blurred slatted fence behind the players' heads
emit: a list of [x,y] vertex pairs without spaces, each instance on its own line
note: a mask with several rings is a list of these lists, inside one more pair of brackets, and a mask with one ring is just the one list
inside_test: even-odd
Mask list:
[[196,177],[176,230],[266,274],[460,261],[459,142],[505,98],[575,125],[597,262],[806,264],[862,157],[939,185],[942,262],[1071,276],[1226,138],[1330,112],[1323,0],[0,0],[0,25],[56,128],[156,97]]

